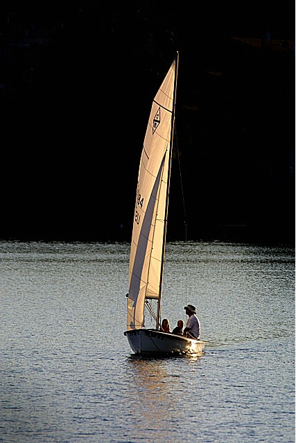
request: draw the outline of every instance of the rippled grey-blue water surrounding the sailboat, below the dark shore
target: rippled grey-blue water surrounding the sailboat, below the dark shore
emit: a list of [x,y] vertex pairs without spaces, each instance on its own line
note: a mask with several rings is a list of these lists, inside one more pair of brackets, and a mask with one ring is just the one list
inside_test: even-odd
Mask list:
[[162,314],[207,345],[144,359],[129,247],[0,244],[0,442],[295,442],[295,249],[168,244]]

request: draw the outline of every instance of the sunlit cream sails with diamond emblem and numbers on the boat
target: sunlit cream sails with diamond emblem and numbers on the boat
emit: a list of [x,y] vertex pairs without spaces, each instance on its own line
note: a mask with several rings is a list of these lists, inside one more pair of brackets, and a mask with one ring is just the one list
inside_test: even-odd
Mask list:
[[176,66],[174,60],[153,100],[143,143],[130,250],[128,330],[143,327],[146,298],[160,299],[162,293]]

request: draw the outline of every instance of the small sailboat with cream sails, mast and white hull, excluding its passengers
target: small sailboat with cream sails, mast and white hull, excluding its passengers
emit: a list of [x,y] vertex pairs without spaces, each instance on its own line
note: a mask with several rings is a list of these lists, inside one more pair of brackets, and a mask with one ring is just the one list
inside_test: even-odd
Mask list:
[[[132,351],[141,355],[200,354],[205,345],[160,327],[178,63],[176,53],[153,100],[139,165],[124,335]],[[146,309],[155,328],[145,327]]]

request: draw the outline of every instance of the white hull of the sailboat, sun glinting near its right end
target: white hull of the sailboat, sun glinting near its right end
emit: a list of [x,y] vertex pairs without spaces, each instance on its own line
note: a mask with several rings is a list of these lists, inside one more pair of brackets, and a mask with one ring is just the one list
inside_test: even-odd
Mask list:
[[125,331],[128,343],[135,354],[182,355],[202,354],[205,342],[186,338],[155,329],[132,329]]

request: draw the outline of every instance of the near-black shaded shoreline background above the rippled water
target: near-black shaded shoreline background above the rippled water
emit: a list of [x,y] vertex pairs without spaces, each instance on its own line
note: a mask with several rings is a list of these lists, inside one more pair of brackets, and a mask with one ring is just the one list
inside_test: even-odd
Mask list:
[[294,244],[295,5],[272,8],[4,4],[0,239],[130,241],[150,104],[179,51],[168,240]]

